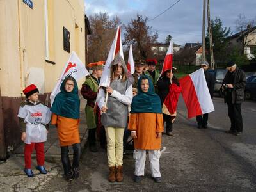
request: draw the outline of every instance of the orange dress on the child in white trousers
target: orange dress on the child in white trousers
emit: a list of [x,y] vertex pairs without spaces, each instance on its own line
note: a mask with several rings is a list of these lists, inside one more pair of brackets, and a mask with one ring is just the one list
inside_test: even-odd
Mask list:
[[142,150],[159,150],[161,138],[156,138],[156,132],[164,131],[163,114],[161,113],[131,113],[128,129],[136,131],[134,148]]

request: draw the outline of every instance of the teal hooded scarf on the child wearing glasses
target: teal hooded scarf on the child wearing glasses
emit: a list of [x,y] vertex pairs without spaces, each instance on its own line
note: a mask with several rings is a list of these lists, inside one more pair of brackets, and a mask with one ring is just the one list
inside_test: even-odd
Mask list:
[[[72,80],[74,82],[74,89],[72,92],[67,92],[65,90],[65,84],[68,80]],[[56,115],[67,118],[79,118],[80,99],[78,97],[78,86],[74,77],[69,76],[61,83],[60,93],[56,95],[51,111]]]

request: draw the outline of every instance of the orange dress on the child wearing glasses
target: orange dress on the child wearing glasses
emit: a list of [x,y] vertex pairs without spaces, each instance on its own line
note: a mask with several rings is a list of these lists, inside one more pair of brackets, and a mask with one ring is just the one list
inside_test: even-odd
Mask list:
[[67,118],[52,113],[52,125],[57,125],[60,146],[80,143],[79,119]]

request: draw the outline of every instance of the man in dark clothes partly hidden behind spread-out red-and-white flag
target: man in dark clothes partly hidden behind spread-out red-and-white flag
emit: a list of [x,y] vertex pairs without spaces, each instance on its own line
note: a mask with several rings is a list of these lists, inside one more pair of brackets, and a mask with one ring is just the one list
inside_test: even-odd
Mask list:
[[[204,68],[205,80],[206,80],[208,90],[209,90],[211,98],[212,98],[213,93],[214,93],[214,83],[215,83],[214,76],[207,71],[209,68],[209,64],[207,61],[204,61],[204,63],[201,64],[201,67]],[[197,127],[199,129],[207,128],[208,116],[209,116],[208,113],[196,116]]]

